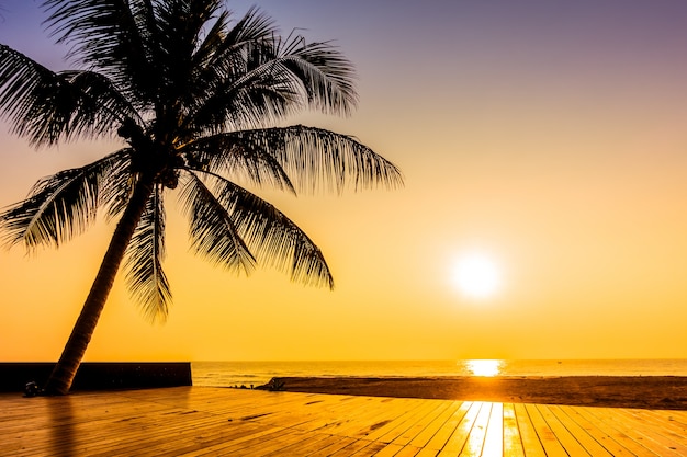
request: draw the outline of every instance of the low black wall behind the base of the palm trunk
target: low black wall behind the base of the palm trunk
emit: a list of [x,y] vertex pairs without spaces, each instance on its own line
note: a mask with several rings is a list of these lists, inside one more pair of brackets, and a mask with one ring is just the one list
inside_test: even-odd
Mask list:
[[[24,391],[29,381],[43,386],[55,363],[0,363],[0,391]],[[190,362],[85,362],[72,390],[191,386]]]

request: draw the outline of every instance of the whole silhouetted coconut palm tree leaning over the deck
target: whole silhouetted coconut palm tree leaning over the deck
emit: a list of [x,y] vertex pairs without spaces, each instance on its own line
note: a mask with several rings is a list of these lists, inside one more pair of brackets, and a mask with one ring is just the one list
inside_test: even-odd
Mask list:
[[349,114],[351,64],[330,43],[280,37],[252,8],[233,21],[221,0],[46,0],[47,30],[77,68],[50,71],[0,45],[0,113],[36,146],[115,135],[122,148],[40,180],[0,214],[9,245],[59,247],[99,209],[117,222],[45,391],[67,393],[123,262],[144,313],[164,320],[165,201],[174,191],[194,251],[229,271],[267,262],[334,286],[320,250],[245,186],[335,191],[402,185],[356,138],[302,125],[314,108]]

